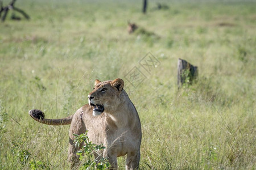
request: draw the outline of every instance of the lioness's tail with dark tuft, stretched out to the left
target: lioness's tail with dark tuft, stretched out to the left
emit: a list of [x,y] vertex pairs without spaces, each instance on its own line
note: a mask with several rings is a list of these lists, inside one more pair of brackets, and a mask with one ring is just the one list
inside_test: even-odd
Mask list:
[[34,118],[34,120],[46,125],[69,125],[71,124],[71,121],[73,118],[73,115],[72,115],[66,118],[48,119],[48,118],[44,118],[44,112],[37,109],[30,110],[28,114],[30,114],[30,116]]

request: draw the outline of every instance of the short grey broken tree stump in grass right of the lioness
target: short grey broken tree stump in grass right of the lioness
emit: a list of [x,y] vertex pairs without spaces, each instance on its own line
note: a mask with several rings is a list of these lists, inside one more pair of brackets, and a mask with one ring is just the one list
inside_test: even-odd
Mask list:
[[198,69],[197,66],[191,65],[191,63],[184,59],[178,59],[177,62],[177,85],[180,88],[183,84],[192,84],[193,80],[197,78]]

